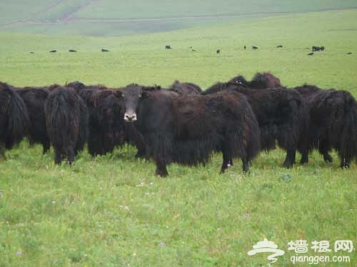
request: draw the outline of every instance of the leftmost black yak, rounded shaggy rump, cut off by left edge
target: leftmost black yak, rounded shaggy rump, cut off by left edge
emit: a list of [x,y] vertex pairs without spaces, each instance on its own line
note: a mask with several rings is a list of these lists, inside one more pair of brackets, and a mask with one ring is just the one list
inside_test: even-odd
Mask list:
[[26,104],[6,83],[0,82],[0,159],[26,136],[30,119]]

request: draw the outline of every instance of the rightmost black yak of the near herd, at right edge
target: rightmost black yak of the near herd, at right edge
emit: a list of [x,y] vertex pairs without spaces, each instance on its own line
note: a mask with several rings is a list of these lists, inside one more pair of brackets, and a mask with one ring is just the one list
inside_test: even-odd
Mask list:
[[[349,167],[357,158],[357,102],[344,90],[322,90],[314,85],[294,88],[303,95],[310,119],[308,123],[308,150],[318,149],[326,162],[328,154],[338,152],[341,168]],[[301,148],[299,147],[299,150]],[[308,151],[303,150],[301,163],[308,162]]]

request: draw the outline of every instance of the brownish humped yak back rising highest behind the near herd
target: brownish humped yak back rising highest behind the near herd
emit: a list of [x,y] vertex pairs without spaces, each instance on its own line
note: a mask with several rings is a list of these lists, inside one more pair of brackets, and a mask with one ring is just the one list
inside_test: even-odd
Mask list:
[[232,78],[231,80],[229,80],[229,82],[245,85],[246,87],[251,89],[266,89],[266,88],[281,87],[279,78],[277,78],[271,73],[256,73],[256,75],[254,75],[253,79],[250,82],[248,82],[246,78],[244,78],[242,75],[238,75]]

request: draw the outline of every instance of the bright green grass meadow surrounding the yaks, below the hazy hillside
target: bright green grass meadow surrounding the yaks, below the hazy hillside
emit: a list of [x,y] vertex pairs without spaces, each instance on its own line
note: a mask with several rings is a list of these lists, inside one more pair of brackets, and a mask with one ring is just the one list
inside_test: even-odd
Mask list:
[[[124,38],[0,33],[0,80],[118,87],[179,79],[206,88],[270,70],[287,86],[313,83],[357,96],[356,16],[290,14]],[[326,51],[306,56],[313,45]],[[55,166],[53,152],[41,155],[38,145],[8,152],[0,165],[0,266],[266,266],[267,255],[246,255],[265,237],[286,251],[273,266],[292,266],[291,240],[333,246],[351,239],[356,247],[357,164],[341,170],[336,154],[332,164],[313,153],[308,165],[283,169],[284,152],[276,150],[261,153],[250,174],[236,162],[223,175],[215,155],[206,167],[172,164],[166,179],[134,155],[132,147],[94,160],[83,152],[69,168]],[[356,266],[356,248],[337,255],[351,263],[319,266]]]

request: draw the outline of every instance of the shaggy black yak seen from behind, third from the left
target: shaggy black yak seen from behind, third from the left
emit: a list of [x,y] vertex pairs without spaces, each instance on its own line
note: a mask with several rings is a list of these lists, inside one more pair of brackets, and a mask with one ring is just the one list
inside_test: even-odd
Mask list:
[[54,147],[56,164],[66,156],[69,164],[82,150],[88,136],[89,113],[73,88],[51,90],[45,103],[46,127]]

